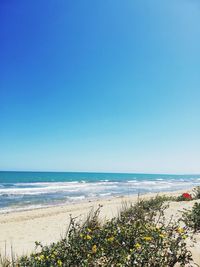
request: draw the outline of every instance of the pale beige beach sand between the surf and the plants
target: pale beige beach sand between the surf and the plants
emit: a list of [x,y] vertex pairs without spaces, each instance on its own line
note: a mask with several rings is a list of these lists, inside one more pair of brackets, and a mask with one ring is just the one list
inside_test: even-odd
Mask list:
[[[181,191],[161,193],[177,196]],[[160,195],[161,195],[160,194]],[[149,198],[156,194],[146,194],[141,197]],[[124,202],[136,202],[137,196],[115,197],[88,202],[80,202],[63,206],[41,208],[29,211],[12,212],[0,214],[0,252],[9,255],[11,246],[17,255],[28,254],[35,248],[35,241],[43,244],[50,244],[65,235],[67,226],[72,217],[86,218],[92,208],[102,205],[101,219],[110,219],[116,216]],[[180,216],[180,211],[184,208],[189,209],[194,201],[190,202],[171,202],[166,211],[166,217],[173,215],[174,219]],[[196,236],[197,243],[191,249],[195,262],[200,266],[200,235]]]

